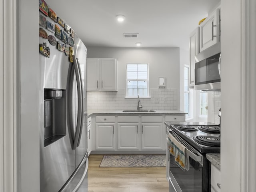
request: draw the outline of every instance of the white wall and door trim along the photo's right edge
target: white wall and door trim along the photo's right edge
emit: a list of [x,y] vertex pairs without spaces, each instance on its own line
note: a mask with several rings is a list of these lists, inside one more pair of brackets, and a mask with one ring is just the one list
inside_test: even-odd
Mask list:
[[225,192],[256,189],[255,10],[255,0],[221,1],[221,190]]

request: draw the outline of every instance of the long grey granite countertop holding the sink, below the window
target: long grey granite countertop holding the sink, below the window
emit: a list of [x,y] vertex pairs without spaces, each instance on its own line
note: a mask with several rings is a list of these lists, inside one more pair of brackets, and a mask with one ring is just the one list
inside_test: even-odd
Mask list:
[[92,115],[138,115],[138,114],[150,114],[150,115],[184,115],[186,114],[180,110],[155,110],[156,112],[123,112],[123,110],[88,110],[88,117]]

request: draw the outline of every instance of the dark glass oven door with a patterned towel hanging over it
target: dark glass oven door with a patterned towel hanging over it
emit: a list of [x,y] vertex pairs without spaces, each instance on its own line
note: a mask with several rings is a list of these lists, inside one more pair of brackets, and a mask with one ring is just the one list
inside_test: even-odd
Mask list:
[[[169,154],[169,186],[171,192],[203,192],[203,156],[197,151],[187,150],[190,168],[183,171],[175,166],[174,156]],[[206,190],[207,191],[207,190]]]

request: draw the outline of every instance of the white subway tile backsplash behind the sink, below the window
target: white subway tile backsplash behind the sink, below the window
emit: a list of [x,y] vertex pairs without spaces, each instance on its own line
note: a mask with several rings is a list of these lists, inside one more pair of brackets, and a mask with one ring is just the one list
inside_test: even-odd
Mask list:
[[[87,92],[88,110],[136,110],[137,98],[125,98],[126,90],[118,92]],[[176,88],[152,88],[150,98],[140,98],[144,110],[177,110]]]

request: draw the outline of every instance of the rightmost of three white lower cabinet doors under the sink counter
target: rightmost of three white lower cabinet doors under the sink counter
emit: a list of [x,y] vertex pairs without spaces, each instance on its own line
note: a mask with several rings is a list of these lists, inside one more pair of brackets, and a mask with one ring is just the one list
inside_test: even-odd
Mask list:
[[142,123],[142,150],[163,150],[163,139],[162,123]]

